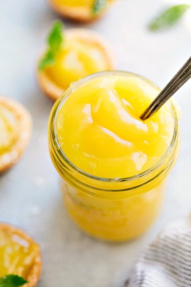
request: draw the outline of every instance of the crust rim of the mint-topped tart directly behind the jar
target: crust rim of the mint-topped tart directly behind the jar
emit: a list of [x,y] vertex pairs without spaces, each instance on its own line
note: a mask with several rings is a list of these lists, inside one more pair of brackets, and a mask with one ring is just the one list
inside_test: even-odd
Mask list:
[[[90,45],[95,45],[99,49],[104,57],[107,65],[106,70],[115,70],[116,60],[115,54],[111,45],[105,38],[96,34],[95,32],[86,29],[68,29],[65,31],[66,39],[79,39]],[[67,40],[66,40],[67,41]],[[42,91],[53,101],[57,100],[65,91],[62,87],[59,87],[51,78],[48,77],[45,71],[38,71],[37,79]]]

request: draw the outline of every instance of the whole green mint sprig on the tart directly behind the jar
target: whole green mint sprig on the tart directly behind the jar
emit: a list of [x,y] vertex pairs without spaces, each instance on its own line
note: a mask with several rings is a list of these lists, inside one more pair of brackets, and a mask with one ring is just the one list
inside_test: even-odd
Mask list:
[[44,70],[47,66],[52,65],[55,63],[55,55],[60,50],[62,43],[64,41],[63,39],[63,23],[61,21],[56,21],[51,31],[48,34],[48,49],[47,52],[44,54],[44,56],[41,58],[39,62],[39,70]]

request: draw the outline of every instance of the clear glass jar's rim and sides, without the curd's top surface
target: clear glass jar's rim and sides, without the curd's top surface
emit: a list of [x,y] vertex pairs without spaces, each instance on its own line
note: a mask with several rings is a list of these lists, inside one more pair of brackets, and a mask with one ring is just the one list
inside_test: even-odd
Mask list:
[[175,104],[169,100],[167,104],[174,118],[173,137],[165,154],[149,170],[133,177],[114,179],[95,177],[80,170],[66,157],[59,145],[56,134],[57,112],[71,92],[90,78],[104,73],[143,78],[128,72],[112,71],[91,75],[73,83],[52,108],[48,127],[49,150],[62,178],[65,205],[74,222],[94,237],[123,241],[143,234],[161,210],[167,175],[179,152],[178,114]]

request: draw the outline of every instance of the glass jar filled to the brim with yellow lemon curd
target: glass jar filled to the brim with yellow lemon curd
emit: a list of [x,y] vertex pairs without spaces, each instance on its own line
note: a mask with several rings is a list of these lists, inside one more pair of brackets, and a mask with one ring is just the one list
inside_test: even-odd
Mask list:
[[66,206],[90,235],[136,237],[161,209],[179,150],[179,110],[172,100],[142,121],[159,91],[138,75],[104,72],[73,84],[54,105],[50,154]]

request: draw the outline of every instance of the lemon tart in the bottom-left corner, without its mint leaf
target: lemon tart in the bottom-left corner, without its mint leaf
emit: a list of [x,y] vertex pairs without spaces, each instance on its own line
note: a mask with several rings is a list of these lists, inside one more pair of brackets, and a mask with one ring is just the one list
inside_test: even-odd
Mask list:
[[8,225],[0,224],[0,277],[17,274],[26,278],[31,285],[31,280],[36,283],[36,277],[39,277],[39,262],[39,246],[31,238]]

